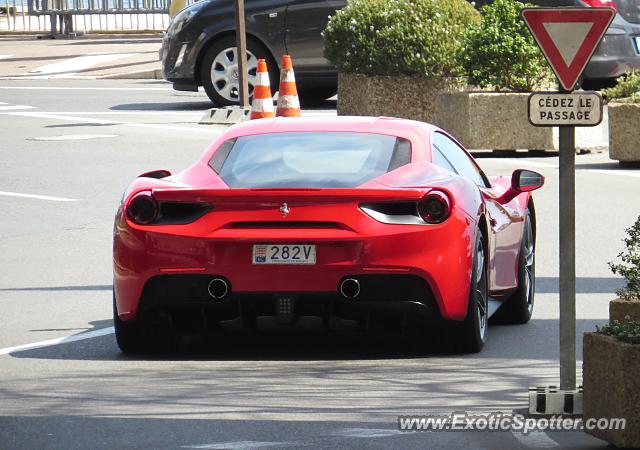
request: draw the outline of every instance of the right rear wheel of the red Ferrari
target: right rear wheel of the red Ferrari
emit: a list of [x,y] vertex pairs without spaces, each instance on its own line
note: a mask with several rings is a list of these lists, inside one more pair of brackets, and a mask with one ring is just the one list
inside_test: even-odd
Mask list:
[[476,233],[467,317],[462,323],[454,324],[453,341],[455,350],[461,353],[478,353],[487,341],[489,326],[489,296],[487,290],[487,258],[482,231]]

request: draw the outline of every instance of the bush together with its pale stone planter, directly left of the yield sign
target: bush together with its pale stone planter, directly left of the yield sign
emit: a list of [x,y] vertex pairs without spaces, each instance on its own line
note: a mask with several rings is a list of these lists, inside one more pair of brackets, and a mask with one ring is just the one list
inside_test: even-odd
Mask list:
[[480,9],[482,20],[465,32],[459,59],[469,84],[485,91],[438,98],[438,124],[469,148],[554,148],[552,129],[536,128],[527,119],[524,93],[552,78],[520,15],[525,6],[495,0]]

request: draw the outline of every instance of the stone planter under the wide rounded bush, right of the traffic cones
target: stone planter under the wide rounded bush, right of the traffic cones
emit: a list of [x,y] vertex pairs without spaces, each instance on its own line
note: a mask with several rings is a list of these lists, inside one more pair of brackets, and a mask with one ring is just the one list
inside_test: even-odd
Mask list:
[[388,116],[433,123],[440,91],[460,89],[452,79],[338,74],[339,116]]

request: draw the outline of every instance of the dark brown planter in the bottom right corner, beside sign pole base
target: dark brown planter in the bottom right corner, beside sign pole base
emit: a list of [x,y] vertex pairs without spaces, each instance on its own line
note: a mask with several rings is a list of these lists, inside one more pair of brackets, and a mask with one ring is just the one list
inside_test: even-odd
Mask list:
[[616,447],[640,447],[640,345],[597,333],[583,338],[583,419],[626,419],[624,430],[588,430]]

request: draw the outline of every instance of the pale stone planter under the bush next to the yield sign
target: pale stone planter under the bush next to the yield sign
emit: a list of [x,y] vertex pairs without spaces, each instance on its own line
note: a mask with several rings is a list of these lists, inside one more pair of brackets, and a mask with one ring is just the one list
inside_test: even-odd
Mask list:
[[441,92],[436,124],[469,149],[555,150],[553,129],[529,123],[526,93]]

